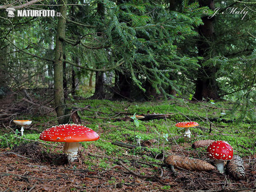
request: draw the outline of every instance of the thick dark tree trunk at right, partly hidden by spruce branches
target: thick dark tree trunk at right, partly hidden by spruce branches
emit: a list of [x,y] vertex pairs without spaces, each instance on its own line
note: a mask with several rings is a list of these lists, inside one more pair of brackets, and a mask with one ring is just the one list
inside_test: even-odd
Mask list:
[[[209,6],[214,10],[214,0],[199,0],[200,6]],[[210,50],[210,42],[214,41],[214,17],[208,19],[203,17],[204,25],[198,27],[198,33],[201,38],[198,41],[198,56],[204,57],[204,61],[209,59],[209,52],[214,54],[214,50]],[[198,70],[197,80],[195,83],[194,100],[205,99],[219,99],[219,87],[215,79],[217,67],[203,67],[201,61],[201,68]]]

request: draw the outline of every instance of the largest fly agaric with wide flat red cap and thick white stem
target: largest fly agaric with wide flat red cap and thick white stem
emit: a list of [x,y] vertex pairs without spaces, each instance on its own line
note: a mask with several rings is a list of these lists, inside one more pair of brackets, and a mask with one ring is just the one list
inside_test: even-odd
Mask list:
[[64,153],[67,154],[69,162],[77,159],[79,142],[96,141],[99,134],[90,128],[76,124],[58,125],[44,130],[39,137],[40,140],[52,142],[65,142]]

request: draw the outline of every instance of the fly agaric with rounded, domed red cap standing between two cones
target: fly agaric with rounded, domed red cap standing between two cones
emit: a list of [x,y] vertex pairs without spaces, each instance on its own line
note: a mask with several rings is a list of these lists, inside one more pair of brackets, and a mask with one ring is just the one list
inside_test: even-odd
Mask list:
[[208,157],[215,160],[215,165],[220,173],[224,173],[224,161],[231,160],[233,148],[226,141],[214,141],[207,148]]

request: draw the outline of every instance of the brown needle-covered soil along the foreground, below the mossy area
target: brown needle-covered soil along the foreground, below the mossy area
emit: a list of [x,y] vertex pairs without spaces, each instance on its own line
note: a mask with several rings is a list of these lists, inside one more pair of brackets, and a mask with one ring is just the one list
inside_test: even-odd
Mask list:
[[[236,180],[216,170],[191,172],[176,169],[177,173],[174,173],[162,163],[152,165],[151,162],[145,162],[145,158],[140,155],[124,155],[122,158],[107,156],[94,145],[90,145],[88,150],[82,149],[79,160],[72,165],[67,163],[66,155],[60,152],[63,150],[62,144],[53,151],[50,146],[40,143],[20,145],[9,152],[1,149],[0,191],[249,192],[256,190],[256,159],[252,160],[249,157],[243,159],[246,179]],[[184,153],[195,157],[199,155],[201,158],[204,156],[204,154],[197,154],[197,151],[182,151],[182,148],[174,148],[173,151],[168,152],[180,155]],[[99,160],[103,158],[109,165],[107,168],[98,166]],[[125,165],[130,171],[120,164]],[[154,175],[155,177],[151,179],[141,177]]]

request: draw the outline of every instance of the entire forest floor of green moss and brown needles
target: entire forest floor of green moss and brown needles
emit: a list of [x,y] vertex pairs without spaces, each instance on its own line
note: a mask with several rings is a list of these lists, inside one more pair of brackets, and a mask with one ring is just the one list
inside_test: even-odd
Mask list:
[[[33,106],[39,108],[35,101],[26,103],[26,108],[31,110],[17,112],[18,118],[32,120],[32,125],[25,128],[23,137],[14,133],[18,133],[19,128],[12,122],[3,121],[0,125],[0,191],[256,190],[256,127],[248,120],[239,124],[233,122],[239,111],[228,115],[232,102],[192,103],[186,99],[143,103],[69,101],[68,105],[75,107],[81,116],[81,124],[100,135],[97,141],[81,143],[79,161],[72,165],[67,163],[63,154],[63,143],[38,139],[41,131],[58,124],[51,102],[44,108],[39,106],[46,111],[41,115],[32,110]],[[2,110],[3,105],[6,107],[8,104],[2,102]],[[163,113],[166,118],[139,120],[139,127],[134,127],[129,116],[135,112],[138,115]],[[174,125],[190,120],[197,121],[199,126],[191,128],[191,138],[183,137],[184,129]],[[111,144],[115,141],[133,144],[134,136],[142,140],[156,139],[157,143],[135,149]],[[206,155],[206,147],[191,148],[192,143],[204,139],[228,141],[233,146],[234,154],[244,160],[246,179],[236,180],[217,170],[197,172],[175,169],[176,172],[172,172],[163,164],[163,148],[165,155],[185,155],[212,163]]]

